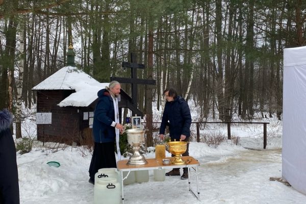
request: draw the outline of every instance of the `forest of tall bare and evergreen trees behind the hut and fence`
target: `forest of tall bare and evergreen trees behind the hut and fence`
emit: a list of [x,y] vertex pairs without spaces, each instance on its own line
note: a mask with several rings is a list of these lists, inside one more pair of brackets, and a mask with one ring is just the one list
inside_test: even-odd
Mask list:
[[18,127],[21,104],[33,106],[32,88],[73,45],[78,68],[101,83],[131,77],[122,61],[137,54],[138,78],[157,82],[138,86],[147,122],[169,86],[194,100],[199,121],[282,119],[283,49],[306,44],[305,21],[302,0],[1,0],[0,109]]

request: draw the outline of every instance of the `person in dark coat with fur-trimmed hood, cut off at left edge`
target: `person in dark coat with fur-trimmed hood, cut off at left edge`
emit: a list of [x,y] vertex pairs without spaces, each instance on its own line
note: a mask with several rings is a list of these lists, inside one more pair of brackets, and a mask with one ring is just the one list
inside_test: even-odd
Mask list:
[[12,115],[0,111],[0,203],[19,204],[16,148],[10,126]]

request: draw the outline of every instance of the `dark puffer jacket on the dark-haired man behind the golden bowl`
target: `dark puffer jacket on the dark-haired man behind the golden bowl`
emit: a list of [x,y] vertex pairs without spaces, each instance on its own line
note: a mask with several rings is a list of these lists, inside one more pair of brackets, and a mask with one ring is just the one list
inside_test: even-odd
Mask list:
[[160,134],[165,134],[169,126],[171,139],[180,140],[181,135],[190,136],[191,114],[184,98],[177,96],[173,101],[167,101],[160,126]]

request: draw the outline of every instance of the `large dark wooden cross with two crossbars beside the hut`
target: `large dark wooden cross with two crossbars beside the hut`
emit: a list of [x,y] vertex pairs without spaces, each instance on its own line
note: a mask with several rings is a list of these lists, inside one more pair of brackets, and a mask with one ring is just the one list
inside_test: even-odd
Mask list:
[[156,85],[155,80],[145,80],[145,79],[137,79],[137,68],[144,69],[143,64],[138,64],[136,60],[136,54],[131,53],[131,62],[122,62],[123,68],[131,68],[131,79],[130,78],[121,78],[121,77],[111,77],[111,81],[115,80],[120,83],[132,84],[132,101],[134,107],[137,108],[137,85],[138,84],[148,84],[148,85]]

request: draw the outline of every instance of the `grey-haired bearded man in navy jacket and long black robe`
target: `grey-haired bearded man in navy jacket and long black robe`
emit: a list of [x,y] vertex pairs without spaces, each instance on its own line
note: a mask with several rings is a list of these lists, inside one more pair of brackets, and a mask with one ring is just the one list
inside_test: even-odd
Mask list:
[[[117,168],[114,142],[116,135],[119,136],[119,132],[123,130],[123,126],[119,123],[117,100],[120,88],[119,82],[112,81],[109,87],[98,91],[92,130],[94,149],[89,167],[91,184],[94,184],[94,175],[99,169]],[[120,152],[118,157],[119,154]]]

